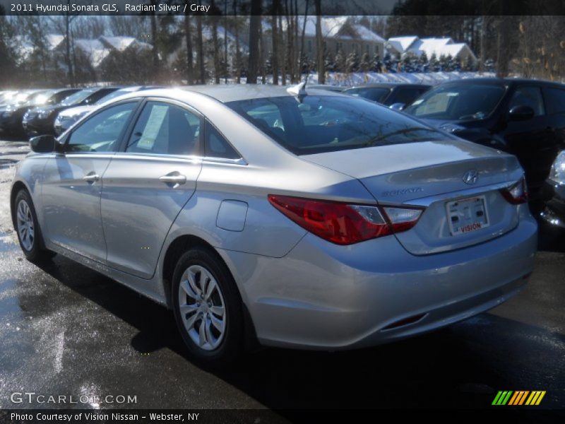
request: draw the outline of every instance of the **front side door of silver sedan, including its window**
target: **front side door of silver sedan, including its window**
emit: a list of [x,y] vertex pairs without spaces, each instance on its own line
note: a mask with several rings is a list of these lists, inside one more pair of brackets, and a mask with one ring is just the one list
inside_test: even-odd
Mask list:
[[42,185],[43,231],[51,242],[105,261],[101,178],[136,106],[137,102],[121,103],[86,119],[66,139],[64,153],[47,160]]

